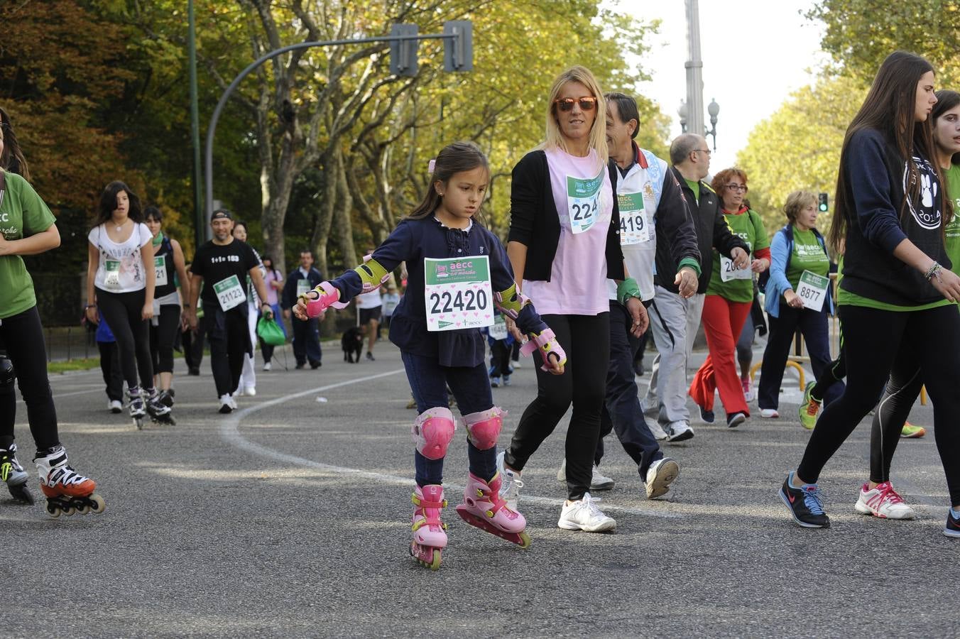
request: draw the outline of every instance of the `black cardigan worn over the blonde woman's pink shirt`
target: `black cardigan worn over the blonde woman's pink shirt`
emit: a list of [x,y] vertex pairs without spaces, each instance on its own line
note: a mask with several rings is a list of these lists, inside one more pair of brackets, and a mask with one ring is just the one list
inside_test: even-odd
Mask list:
[[[616,163],[610,160],[613,213],[607,229],[607,277],[623,279],[620,249],[620,209],[616,201]],[[560,242],[560,216],[550,186],[546,154],[531,151],[516,163],[510,188],[510,234],[508,242],[527,248],[523,278],[550,281],[553,258]]]

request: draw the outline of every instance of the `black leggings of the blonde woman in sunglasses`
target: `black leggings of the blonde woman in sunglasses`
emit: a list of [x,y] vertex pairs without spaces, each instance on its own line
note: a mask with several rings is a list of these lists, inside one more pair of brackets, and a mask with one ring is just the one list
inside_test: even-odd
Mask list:
[[523,470],[572,402],[566,430],[566,489],[569,498],[577,500],[590,489],[600,434],[610,365],[610,313],[544,315],[543,321],[557,335],[569,361],[563,375],[552,375],[540,370],[540,357],[536,358],[537,398],[520,417],[504,459],[510,467]]

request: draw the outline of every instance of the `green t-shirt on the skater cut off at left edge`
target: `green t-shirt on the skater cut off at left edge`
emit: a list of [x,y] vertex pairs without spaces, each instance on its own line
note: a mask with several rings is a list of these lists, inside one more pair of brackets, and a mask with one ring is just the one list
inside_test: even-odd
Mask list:
[[[7,240],[21,240],[42,233],[57,222],[47,205],[26,179],[4,173],[6,189],[0,191],[0,233]],[[7,319],[36,306],[34,280],[19,255],[0,256],[0,319]]]

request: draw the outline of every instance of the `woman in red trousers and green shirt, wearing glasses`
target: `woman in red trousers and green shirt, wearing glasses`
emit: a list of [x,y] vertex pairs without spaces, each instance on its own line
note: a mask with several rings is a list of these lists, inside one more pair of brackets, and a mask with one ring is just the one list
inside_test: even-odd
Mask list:
[[736,269],[731,259],[713,250],[713,271],[702,317],[710,353],[693,377],[690,396],[700,407],[704,421],[712,423],[713,391],[719,390],[727,411],[727,426],[732,428],[750,416],[736,372],[735,343],[754,301],[754,273],[770,267],[770,241],[760,216],[743,205],[747,174],[740,169],[724,169],[714,176],[710,186],[723,202],[727,225],[747,243],[751,264],[749,268]]

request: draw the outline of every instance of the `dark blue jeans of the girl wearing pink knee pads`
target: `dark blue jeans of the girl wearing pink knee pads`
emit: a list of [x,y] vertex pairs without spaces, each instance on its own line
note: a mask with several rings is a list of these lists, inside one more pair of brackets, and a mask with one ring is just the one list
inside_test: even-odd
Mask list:
[[[417,402],[418,414],[432,408],[446,408],[449,405],[447,386],[453,391],[460,414],[479,413],[493,408],[490,378],[484,364],[475,367],[442,367],[435,358],[414,355],[407,351],[401,351],[400,357],[407,372],[410,390]],[[480,450],[468,441],[467,457],[471,473],[488,482],[493,479],[496,474],[496,446]],[[443,458],[428,460],[420,455],[420,451],[414,451],[414,463],[417,468],[417,485],[443,483]]]

